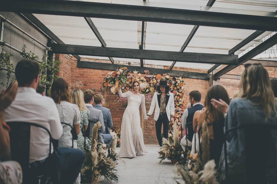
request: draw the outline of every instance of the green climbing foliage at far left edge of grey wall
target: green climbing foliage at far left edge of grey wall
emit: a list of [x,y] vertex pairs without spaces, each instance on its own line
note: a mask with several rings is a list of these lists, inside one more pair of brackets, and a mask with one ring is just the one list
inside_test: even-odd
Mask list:
[[9,81],[12,75],[12,72],[14,70],[14,65],[12,64],[12,61],[10,60],[11,54],[7,54],[4,51],[0,52],[0,73],[2,70],[7,71],[7,83],[0,83],[0,86],[3,86],[5,88],[8,87]]

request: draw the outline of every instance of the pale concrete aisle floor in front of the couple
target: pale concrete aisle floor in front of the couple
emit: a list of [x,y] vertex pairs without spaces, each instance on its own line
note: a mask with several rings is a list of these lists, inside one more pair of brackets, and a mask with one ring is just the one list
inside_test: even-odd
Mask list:
[[[157,184],[157,183],[176,183],[175,166],[169,160],[164,160],[159,164],[157,153],[158,145],[146,145],[149,151],[144,156],[138,156],[133,159],[122,158],[126,166],[119,161],[119,180],[118,184]],[[119,153],[120,148],[117,148]],[[107,183],[102,179],[100,183]],[[115,184],[116,182],[113,182]]]

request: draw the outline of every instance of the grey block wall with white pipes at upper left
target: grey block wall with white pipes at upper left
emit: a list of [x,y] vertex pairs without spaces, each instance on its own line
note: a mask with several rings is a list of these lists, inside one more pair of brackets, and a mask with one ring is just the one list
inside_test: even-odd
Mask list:
[[[47,44],[47,37],[42,34],[37,28],[35,28],[35,26],[23,19],[19,14],[0,11],[0,15],[3,17],[8,17],[8,20],[10,22],[21,28],[24,32],[30,34],[32,37],[39,40],[44,45]],[[6,41],[7,44],[17,48],[18,50],[21,50],[23,44],[25,44],[26,52],[34,52],[36,55],[38,55],[40,61],[42,59],[42,55],[46,54],[46,49],[42,45],[31,39],[29,36],[15,28],[14,26],[11,26],[11,24],[8,22],[4,22],[3,41]],[[15,68],[18,61],[22,59],[21,55],[7,46],[3,46],[2,50],[13,55],[11,57],[11,60]],[[0,72],[0,83],[3,81],[6,82],[6,71],[1,70]],[[14,74],[12,74],[12,78],[15,78]],[[3,87],[1,86],[0,90],[2,89]]]

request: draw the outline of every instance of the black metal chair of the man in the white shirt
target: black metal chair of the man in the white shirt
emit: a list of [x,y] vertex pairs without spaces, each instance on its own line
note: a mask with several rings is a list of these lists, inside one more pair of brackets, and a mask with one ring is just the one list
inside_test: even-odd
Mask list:
[[[51,171],[51,133],[45,127],[31,122],[7,122],[11,127],[10,135],[10,149],[11,149],[11,159],[17,161],[23,171],[23,183],[30,183],[30,181],[38,182],[41,181],[48,183],[50,171]],[[49,135],[49,173],[39,173],[33,174],[29,167],[29,154],[30,154],[30,135],[31,135],[31,126],[44,129]],[[35,180],[35,181],[34,181]]]

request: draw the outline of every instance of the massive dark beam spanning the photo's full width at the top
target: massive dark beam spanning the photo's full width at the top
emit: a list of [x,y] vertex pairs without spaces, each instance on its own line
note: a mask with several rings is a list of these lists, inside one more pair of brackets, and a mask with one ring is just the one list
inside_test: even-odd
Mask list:
[[144,1],[128,4],[86,1],[19,1],[2,3],[0,11],[109,18],[134,21],[190,24],[226,28],[276,31],[277,13]]

